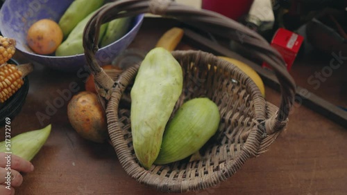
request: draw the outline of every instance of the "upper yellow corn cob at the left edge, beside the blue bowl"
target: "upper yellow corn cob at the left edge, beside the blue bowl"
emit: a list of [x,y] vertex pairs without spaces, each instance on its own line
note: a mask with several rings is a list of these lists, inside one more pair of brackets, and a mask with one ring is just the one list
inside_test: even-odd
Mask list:
[[15,55],[15,39],[0,36],[0,64],[4,64]]

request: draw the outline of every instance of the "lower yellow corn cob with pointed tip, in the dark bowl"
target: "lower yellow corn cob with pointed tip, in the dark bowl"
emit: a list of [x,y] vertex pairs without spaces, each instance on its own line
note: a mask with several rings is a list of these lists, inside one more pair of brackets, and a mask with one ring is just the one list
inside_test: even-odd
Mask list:
[[23,77],[33,71],[32,64],[3,64],[0,66],[0,102],[10,98],[24,84]]

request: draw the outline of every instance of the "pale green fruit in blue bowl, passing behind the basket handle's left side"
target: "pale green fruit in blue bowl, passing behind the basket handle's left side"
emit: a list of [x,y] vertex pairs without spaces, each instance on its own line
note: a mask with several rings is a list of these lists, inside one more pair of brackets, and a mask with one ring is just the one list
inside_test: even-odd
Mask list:
[[[83,30],[87,25],[88,21],[92,18],[95,12],[90,13],[85,19],[83,19],[78,25],[72,30],[60,46],[56,49],[56,56],[68,56],[68,55],[78,55],[84,53],[83,48]],[[99,41],[103,37],[108,23],[101,25],[99,33]]]

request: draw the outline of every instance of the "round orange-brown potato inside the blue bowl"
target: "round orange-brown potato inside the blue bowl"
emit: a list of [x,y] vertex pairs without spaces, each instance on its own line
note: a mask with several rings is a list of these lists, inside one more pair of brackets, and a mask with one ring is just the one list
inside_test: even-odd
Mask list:
[[28,30],[26,42],[37,54],[51,54],[62,43],[62,30],[60,26],[51,19],[40,19]]

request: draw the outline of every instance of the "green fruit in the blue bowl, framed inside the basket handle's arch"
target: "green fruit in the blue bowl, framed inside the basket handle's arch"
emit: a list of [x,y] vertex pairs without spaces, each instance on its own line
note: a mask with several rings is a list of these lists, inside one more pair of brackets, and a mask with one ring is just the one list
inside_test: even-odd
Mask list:
[[101,47],[112,44],[114,41],[123,37],[126,32],[128,32],[131,19],[131,17],[123,17],[110,21],[105,35],[103,35],[103,39],[101,39]]

